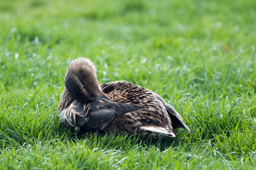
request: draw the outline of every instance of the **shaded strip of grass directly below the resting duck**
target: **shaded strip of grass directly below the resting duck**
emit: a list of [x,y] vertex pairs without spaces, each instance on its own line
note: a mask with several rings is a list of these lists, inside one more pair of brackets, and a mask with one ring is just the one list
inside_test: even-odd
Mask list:
[[[67,127],[68,128],[68,127]],[[95,147],[114,149],[114,150],[130,150],[131,148],[141,148],[147,150],[156,148],[160,151],[168,148],[175,149],[180,145],[179,136],[176,138],[154,139],[146,138],[140,134],[113,134],[111,132],[75,132],[70,129],[71,139],[74,143],[86,142],[88,145]]]

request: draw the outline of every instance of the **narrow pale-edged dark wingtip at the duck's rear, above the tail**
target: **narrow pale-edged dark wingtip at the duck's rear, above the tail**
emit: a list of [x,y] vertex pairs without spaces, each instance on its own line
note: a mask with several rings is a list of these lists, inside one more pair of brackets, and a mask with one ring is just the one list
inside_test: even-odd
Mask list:
[[157,97],[157,99],[159,99],[159,101],[161,101],[161,103],[164,104],[166,111],[168,112],[168,115],[170,116],[170,118],[172,120],[173,128],[176,129],[178,127],[184,127],[185,129],[187,129],[190,132],[189,127],[184,123],[180,114],[170,104],[167,104],[162,97],[160,97],[155,92],[152,92],[152,93],[154,94],[154,96]]

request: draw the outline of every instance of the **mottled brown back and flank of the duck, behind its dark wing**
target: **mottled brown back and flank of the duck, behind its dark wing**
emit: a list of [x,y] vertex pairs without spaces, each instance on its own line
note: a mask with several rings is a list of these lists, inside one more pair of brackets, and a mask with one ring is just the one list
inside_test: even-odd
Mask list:
[[166,110],[163,99],[157,94],[127,81],[112,81],[102,84],[101,87],[102,91],[117,103],[134,103],[143,107],[116,118],[105,131],[115,133],[136,131],[138,134],[153,138],[175,137],[170,113]]

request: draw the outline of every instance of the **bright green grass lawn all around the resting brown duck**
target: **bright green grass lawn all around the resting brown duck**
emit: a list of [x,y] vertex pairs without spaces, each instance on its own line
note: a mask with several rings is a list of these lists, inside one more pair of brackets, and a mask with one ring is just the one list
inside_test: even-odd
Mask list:
[[[0,169],[255,169],[256,3],[0,1]],[[68,64],[154,90],[191,129],[88,134],[58,120]]]

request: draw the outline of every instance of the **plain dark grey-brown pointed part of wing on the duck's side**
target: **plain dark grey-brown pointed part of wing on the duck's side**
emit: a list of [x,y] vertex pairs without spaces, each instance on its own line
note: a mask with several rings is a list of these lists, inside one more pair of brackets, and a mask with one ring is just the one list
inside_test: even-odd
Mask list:
[[139,110],[142,107],[138,104],[115,103],[108,99],[100,98],[92,102],[89,120],[84,124],[86,127],[97,128],[102,130],[106,125],[125,113]]

